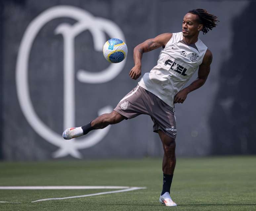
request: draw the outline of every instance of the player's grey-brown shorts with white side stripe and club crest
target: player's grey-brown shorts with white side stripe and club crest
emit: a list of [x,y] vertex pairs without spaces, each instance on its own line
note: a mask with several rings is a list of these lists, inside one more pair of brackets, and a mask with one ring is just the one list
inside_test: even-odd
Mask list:
[[132,119],[140,114],[147,114],[153,120],[153,131],[162,130],[166,135],[176,138],[176,117],[174,108],[160,98],[142,88],[135,87],[114,108],[116,112]]

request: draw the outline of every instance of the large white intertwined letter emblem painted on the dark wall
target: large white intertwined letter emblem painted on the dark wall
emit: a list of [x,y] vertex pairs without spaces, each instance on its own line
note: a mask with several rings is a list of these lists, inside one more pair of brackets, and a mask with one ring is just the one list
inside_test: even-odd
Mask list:
[[[77,20],[73,25],[62,23],[56,30],[56,34],[62,34],[64,39],[64,127],[63,129],[75,126],[75,71],[74,71],[74,39],[85,30],[89,30],[93,37],[94,48],[102,51],[106,42],[105,33],[109,37],[119,38],[125,41],[121,29],[112,21],[94,17],[87,11],[72,6],[52,7],[38,15],[27,27],[21,41],[16,64],[16,87],[21,110],[31,127],[45,140],[56,145],[59,149],[54,152],[53,157],[71,155],[81,158],[78,149],[88,148],[101,141],[108,133],[110,126],[96,130],[85,136],[83,139],[65,141],[62,134],[57,134],[45,125],[36,114],[31,103],[28,87],[28,61],[30,50],[39,30],[49,21],[55,18],[69,17]],[[77,79],[84,83],[104,83],[115,78],[123,69],[125,61],[110,64],[100,72],[79,70]],[[105,106],[98,111],[98,115],[112,111],[111,106]]]

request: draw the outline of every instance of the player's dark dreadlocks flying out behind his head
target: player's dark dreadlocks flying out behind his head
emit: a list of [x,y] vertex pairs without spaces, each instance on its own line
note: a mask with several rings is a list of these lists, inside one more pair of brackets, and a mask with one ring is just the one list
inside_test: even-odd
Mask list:
[[212,28],[217,26],[216,22],[219,22],[217,20],[217,16],[208,13],[204,9],[191,10],[189,13],[198,16],[199,22],[203,24],[203,28],[200,30],[203,32],[203,34],[206,34],[209,30],[212,30]]

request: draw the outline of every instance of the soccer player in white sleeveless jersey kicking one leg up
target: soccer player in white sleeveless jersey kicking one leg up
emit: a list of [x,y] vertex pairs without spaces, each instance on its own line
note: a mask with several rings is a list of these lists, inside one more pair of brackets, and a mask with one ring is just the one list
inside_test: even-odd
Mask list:
[[[177,206],[170,197],[176,164],[174,104],[183,103],[190,92],[205,83],[212,53],[198,35],[200,31],[206,34],[212,30],[217,21],[215,15],[204,9],[191,10],[183,18],[182,32],[164,33],[137,45],[133,52],[135,66],[129,73],[130,77],[135,80],[140,77],[143,53],[162,47],[157,65],[142,77],[111,113],[103,114],[85,126],[66,129],[64,139],[83,136],[140,114],[149,115],[154,123],[153,131],[159,134],[164,149],[163,189],[159,201],[166,206]],[[197,79],[183,88],[197,70]]]

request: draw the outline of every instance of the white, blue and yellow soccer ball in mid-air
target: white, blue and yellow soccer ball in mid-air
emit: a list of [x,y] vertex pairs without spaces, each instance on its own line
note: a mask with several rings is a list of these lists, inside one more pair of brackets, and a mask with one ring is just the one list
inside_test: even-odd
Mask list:
[[119,63],[127,56],[127,45],[124,41],[112,38],[103,46],[103,55],[111,63]]

